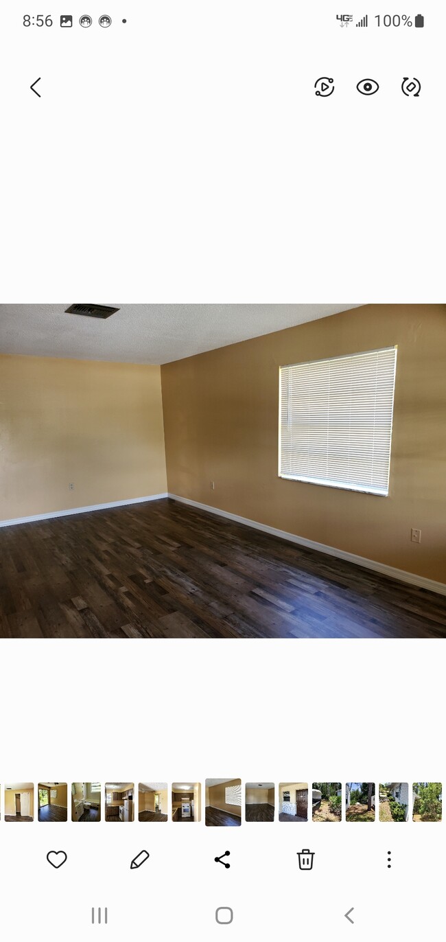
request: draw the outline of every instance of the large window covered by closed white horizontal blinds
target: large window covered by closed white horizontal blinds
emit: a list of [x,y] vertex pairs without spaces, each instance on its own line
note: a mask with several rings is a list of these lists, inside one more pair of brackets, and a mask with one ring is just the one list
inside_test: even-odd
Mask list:
[[281,366],[279,477],[388,495],[396,347]]

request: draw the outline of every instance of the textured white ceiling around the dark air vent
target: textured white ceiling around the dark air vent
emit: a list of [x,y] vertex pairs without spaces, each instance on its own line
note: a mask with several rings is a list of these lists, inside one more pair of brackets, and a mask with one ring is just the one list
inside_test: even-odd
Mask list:
[[[0,304],[0,352],[162,364],[328,317],[358,304],[121,304],[106,320],[67,304]],[[111,304],[101,299],[97,303]]]

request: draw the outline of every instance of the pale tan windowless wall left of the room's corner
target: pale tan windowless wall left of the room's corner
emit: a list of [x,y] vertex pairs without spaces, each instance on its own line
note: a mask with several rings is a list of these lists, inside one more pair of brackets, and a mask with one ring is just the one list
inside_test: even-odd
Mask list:
[[166,490],[159,366],[0,356],[0,520]]

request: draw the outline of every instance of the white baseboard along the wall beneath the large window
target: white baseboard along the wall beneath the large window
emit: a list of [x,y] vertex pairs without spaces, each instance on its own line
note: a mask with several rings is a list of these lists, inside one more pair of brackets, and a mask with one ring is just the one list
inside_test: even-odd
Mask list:
[[421,589],[427,589],[429,592],[446,595],[446,584],[436,582],[435,579],[428,579],[425,576],[417,576],[416,573],[406,573],[404,569],[396,569],[395,566],[388,566],[385,562],[376,562],[368,560],[364,556],[357,556],[356,553],[347,553],[343,549],[337,549],[335,546],[326,546],[324,543],[316,543],[314,540],[307,540],[306,537],[296,536],[295,533],[288,533],[286,530],[280,530],[276,527],[268,527],[267,524],[260,524],[257,520],[249,520],[247,517],[240,517],[237,513],[220,511],[217,507],[211,507],[209,504],[200,504],[198,500],[189,500],[188,497],[180,497],[176,494],[168,494],[172,500],[178,500],[181,504],[189,504],[190,507],[197,507],[200,511],[216,513],[219,517],[226,517],[237,524],[244,524],[246,527],[260,529],[263,533],[270,533],[271,536],[277,536],[280,540],[287,540],[289,543],[296,543],[299,546],[306,546],[308,549],[315,549],[318,553],[327,553],[328,556],[336,556],[339,560],[354,562],[357,566],[363,566],[364,569],[373,569],[375,573],[381,573],[383,576],[389,576],[391,579],[397,579],[399,582],[408,582],[410,585],[419,586]]

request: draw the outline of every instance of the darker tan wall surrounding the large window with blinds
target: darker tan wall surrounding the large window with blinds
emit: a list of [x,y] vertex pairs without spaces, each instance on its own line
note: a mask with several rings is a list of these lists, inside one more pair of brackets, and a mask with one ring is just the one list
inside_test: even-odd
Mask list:
[[[279,366],[393,344],[389,497],[280,479]],[[445,350],[446,305],[380,304],[162,366],[169,492],[444,581]]]

